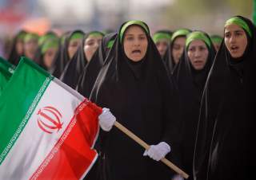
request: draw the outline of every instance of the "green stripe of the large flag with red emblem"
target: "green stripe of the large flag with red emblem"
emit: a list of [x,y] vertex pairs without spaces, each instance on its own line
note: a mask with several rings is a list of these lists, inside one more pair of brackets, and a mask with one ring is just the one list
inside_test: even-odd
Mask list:
[[0,164],[53,78],[34,62],[22,57],[0,95]]

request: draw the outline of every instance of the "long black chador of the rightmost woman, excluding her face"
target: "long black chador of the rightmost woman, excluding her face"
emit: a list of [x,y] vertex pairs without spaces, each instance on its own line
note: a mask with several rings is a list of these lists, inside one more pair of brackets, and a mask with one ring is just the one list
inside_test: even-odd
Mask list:
[[195,145],[196,180],[254,177],[256,29],[247,18],[231,19],[247,26],[248,43],[242,57],[234,59],[222,41],[210,69]]

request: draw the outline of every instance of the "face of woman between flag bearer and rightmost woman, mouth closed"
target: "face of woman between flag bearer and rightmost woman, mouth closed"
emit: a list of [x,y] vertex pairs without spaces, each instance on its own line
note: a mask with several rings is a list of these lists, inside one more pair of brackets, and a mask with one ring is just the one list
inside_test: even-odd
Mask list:
[[206,43],[202,40],[192,41],[187,51],[190,63],[196,70],[201,70],[205,67],[208,54]]

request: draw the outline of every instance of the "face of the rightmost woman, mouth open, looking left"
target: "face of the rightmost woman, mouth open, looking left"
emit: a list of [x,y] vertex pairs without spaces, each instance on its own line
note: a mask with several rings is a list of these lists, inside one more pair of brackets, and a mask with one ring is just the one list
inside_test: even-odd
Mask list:
[[242,57],[247,46],[246,32],[238,25],[226,25],[224,39],[231,57]]

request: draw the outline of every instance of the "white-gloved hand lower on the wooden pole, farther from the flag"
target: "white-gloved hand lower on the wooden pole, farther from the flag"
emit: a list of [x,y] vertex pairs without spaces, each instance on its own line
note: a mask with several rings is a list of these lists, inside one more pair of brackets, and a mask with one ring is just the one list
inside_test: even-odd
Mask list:
[[155,161],[159,161],[164,158],[167,153],[170,152],[170,146],[166,142],[158,143],[157,145],[151,145],[149,150],[144,152],[144,156],[148,155]]

